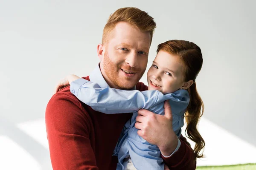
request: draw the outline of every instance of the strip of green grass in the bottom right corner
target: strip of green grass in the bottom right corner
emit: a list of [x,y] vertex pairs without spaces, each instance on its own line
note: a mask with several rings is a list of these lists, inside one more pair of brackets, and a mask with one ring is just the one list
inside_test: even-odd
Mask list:
[[196,169],[197,170],[256,170],[256,164],[202,166],[202,167],[197,167]]

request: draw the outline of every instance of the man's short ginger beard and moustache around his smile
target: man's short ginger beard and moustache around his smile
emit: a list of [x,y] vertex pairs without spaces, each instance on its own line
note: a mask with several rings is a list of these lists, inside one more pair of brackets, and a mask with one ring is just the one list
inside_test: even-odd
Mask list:
[[[121,89],[131,89],[139,82],[140,78],[143,76],[146,69],[143,71],[140,68],[133,68],[130,66],[122,66],[122,63],[116,64],[113,62],[109,56],[108,52],[105,51],[103,67],[105,74],[107,74],[108,79],[116,86]],[[125,79],[119,77],[120,68],[128,71],[134,71],[137,75],[135,77],[125,77]]]

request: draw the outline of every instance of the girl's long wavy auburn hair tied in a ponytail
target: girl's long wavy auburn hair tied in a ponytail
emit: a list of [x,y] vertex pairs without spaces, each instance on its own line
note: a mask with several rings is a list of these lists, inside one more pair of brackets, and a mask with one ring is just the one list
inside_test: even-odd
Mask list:
[[194,152],[196,158],[202,158],[204,157],[205,142],[197,129],[197,125],[204,113],[204,103],[198,94],[195,84],[195,79],[203,65],[201,49],[193,42],[170,40],[159,44],[157,53],[160,50],[180,57],[184,67],[184,81],[194,81],[194,83],[187,89],[190,96],[190,102],[185,113],[187,124],[185,133],[189,139],[195,142]]

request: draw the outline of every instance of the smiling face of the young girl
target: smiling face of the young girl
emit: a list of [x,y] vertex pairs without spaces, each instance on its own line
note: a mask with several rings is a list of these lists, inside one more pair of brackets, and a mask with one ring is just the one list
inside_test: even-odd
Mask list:
[[160,50],[148,70],[148,90],[173,93],[186,83],[183,75],[183,64],[179,57]]

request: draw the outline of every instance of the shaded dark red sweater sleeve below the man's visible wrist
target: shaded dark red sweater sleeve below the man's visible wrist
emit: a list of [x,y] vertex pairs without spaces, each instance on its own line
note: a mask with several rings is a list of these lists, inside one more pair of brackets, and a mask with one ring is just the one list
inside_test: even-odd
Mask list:
[[195,170],[196,158],[189,142],[182,135],[180,136],[180,147],[172,156],[161,155],[170,170]]

